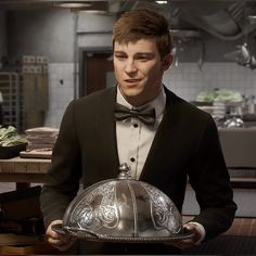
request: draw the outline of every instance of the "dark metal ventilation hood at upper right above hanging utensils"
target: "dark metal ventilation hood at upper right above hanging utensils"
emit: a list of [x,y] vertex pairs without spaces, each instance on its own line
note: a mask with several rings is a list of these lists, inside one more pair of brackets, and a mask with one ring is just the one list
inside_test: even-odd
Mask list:
[[171,27],[200,29],[221,40],[236,40],[256,29],[253,0],[136,1],[133,8],[154,8],[166,14]]

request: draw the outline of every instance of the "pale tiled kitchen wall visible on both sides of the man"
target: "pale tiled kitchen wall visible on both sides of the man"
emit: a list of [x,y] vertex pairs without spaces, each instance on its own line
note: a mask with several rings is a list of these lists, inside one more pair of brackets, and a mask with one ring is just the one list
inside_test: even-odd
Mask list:
[[[195,100],[202,90],[215,88],[256,95],[256,69],[235,63],[205,63],[201,71],[195,63],[180,63],[165,73],[164,84],[188,101]],[[44,125],[59,128],[67,104],[74,98],[73,63],[49,65],[49,92],[50,106]]]

